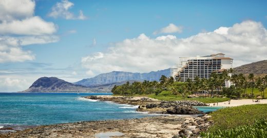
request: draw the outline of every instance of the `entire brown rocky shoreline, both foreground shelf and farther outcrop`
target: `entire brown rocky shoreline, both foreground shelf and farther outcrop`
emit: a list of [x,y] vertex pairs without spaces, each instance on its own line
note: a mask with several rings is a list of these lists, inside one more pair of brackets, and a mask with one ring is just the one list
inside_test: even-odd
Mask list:
[[[112,137],[198,137],[213,124],[211,116],[192,106],[207,106],[197,101],[159,101],[146,97],[88,96],[92,100],[140,105],[137,111],[165,113],[141,119],[87,121],[40,126],[17,132],[0,133],[4,137],[98,137],[102,133],[120,134]],[[200,114],[198,117],[173,114]],[[111,136],[111,135],[110,135]]]

